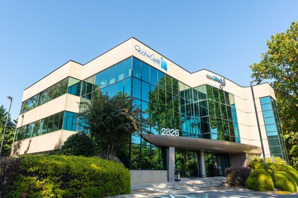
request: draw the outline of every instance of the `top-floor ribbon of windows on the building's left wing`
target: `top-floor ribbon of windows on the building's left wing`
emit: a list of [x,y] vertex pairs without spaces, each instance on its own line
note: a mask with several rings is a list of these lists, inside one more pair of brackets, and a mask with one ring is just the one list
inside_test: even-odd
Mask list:
[[80,80],[73,77],[67,77],[42,92],[32,96],[31,98],[22,102],[21,112],[23,114],[31,109],[34,109],[40,105],[43,105],[55,98],[69,93],[79,96],[80,92]]

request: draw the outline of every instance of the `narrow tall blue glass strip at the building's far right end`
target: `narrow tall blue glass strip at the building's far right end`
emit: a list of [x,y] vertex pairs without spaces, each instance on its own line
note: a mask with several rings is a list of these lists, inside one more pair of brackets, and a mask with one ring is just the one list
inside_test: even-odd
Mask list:
[[270,153],[289,163],[281,122],[275,100],[271,96],[260,98]]

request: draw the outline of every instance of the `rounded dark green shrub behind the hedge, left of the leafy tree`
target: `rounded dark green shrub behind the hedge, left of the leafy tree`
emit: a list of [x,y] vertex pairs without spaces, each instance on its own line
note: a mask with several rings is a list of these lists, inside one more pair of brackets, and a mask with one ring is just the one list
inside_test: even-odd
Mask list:
[[60,152],[64,155],[94,156],[95,144],[92,138],[85,132],[77,132],[67,138],[61,146]]

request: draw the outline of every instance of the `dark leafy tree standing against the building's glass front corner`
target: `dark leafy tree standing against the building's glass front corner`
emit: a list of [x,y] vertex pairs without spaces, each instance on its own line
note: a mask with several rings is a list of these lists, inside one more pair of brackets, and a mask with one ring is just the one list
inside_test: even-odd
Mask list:
[[83,128],[89,130],[104,159],[114,159],[129,143],[134,132],[141,134],[140,109],[132,99],[121,93],[110,98],[99,91],[98,97],[80,103]]

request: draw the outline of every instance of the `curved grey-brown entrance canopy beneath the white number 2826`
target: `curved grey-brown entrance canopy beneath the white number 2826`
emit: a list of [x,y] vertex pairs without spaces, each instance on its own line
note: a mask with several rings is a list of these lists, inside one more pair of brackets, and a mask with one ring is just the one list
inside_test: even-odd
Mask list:
[[142,137],[156,146],[175,147],[185,150],[212,150],[218,152],[248,153],[255,155],[262,153],[262,148],[259,146],[230,141],[154,134],[143,134]]

